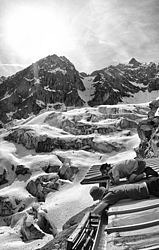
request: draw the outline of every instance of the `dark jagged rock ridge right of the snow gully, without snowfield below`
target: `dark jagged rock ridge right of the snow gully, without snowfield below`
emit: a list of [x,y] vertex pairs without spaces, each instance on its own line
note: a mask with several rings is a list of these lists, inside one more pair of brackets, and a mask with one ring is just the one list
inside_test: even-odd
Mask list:
[[94,71],[92,84],[94,96],[88,102],[90,106],[99,104],[117,104],[123,97],[132,97],[139,91],[158,90],[159,65],[142,64],[132,58],[128,64],[119,64]]

